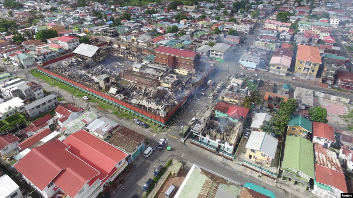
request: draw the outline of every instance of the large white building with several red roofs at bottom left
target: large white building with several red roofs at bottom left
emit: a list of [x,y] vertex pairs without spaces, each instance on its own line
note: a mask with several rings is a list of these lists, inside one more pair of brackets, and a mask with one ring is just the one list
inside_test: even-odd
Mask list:
[[128,165],[125,157],[126,153],[80,130],[63,142],[33,148],[14,167],[43,197],[97,197]]

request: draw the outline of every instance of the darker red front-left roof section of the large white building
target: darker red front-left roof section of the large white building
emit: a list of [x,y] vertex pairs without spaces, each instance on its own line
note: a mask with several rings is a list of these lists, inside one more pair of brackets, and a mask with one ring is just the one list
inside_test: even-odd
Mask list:
[[40,190],[54,182],[70,197],[99,172],[67,150],[69,146],[54,140],[32,149],[14,167]]

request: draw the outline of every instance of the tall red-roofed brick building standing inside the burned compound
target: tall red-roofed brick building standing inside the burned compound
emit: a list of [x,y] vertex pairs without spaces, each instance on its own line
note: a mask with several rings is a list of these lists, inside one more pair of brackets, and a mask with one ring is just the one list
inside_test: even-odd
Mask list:
[[166,64],[173,68],[174,73],[188,75],[195,74],[201,63],[201,56],[194,51],[160,46],[154,51],[155,62]]

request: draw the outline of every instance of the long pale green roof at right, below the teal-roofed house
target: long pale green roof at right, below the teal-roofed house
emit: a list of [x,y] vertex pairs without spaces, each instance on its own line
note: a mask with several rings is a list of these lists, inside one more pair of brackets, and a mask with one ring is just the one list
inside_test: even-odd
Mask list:
[[315,179],[314,149],[312,142],[301,136],[287,135],[281,168],[300,171]]

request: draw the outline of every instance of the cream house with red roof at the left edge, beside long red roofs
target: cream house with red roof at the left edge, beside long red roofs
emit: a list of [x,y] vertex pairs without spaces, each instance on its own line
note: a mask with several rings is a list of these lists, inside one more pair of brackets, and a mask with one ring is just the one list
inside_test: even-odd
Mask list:
[[20,139],[13,134],[0,136],[0,157],[5,160],[17,151],[17,144]]

